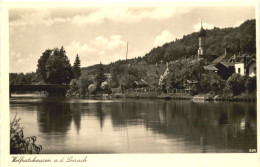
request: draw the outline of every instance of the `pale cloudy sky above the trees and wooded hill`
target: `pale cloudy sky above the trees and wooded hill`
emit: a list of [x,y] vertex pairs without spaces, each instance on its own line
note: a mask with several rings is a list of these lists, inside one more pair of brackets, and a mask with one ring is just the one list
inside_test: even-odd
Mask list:
[[109,64],[144,56],[154,47],[205,29],[237,27],[255,19],[254,7],[82,7],[11,8],[10,72],[35,72],[46,49],[64,47],[73,65]]

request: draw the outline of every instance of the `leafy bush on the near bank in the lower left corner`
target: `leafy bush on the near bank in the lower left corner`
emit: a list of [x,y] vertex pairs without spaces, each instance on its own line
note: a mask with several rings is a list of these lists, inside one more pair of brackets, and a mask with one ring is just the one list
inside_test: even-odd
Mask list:
[[16,118],[10,123],[10,153],[11,154],[39,154],[41,145],[36,145],[36,137],[24,137],[23,128],[20,127],[20,119]]

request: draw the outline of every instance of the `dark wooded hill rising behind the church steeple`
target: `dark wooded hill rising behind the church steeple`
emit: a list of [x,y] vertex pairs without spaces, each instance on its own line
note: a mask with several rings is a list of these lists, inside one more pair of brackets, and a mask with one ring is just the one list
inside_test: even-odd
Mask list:
[[[230,48],[231,53],[256,53],[256,23],[247,20],[235,28],[214,28],[206,30],[206,54],[220,56],[225,48]],[[197,54],[198,34],[194,32],[184,35],[182,39],[166,43],[161,47],[153,48],[143,60],[148,64],[169,62]]]

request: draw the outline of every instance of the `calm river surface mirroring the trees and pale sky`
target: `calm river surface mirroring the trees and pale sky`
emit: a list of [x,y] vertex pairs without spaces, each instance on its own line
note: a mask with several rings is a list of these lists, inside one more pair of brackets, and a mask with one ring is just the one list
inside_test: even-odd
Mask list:
[[14,95],[43,154],[236,153],[256,149],[256,103]]

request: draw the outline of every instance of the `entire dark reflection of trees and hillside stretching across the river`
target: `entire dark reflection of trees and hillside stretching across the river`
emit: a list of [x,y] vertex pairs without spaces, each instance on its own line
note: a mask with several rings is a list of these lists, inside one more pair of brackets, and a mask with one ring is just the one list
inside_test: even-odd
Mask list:
[[43,100],[38,110],[40,131],[66,133],[81,116],[99,119],[102,130],[111,116],[115,129],[144,125],[154,133],[180,138],[192,145],[248,151],[256,148],[255,103],[193,103],[190,101],[126,100],[112,103],[66,103]]

